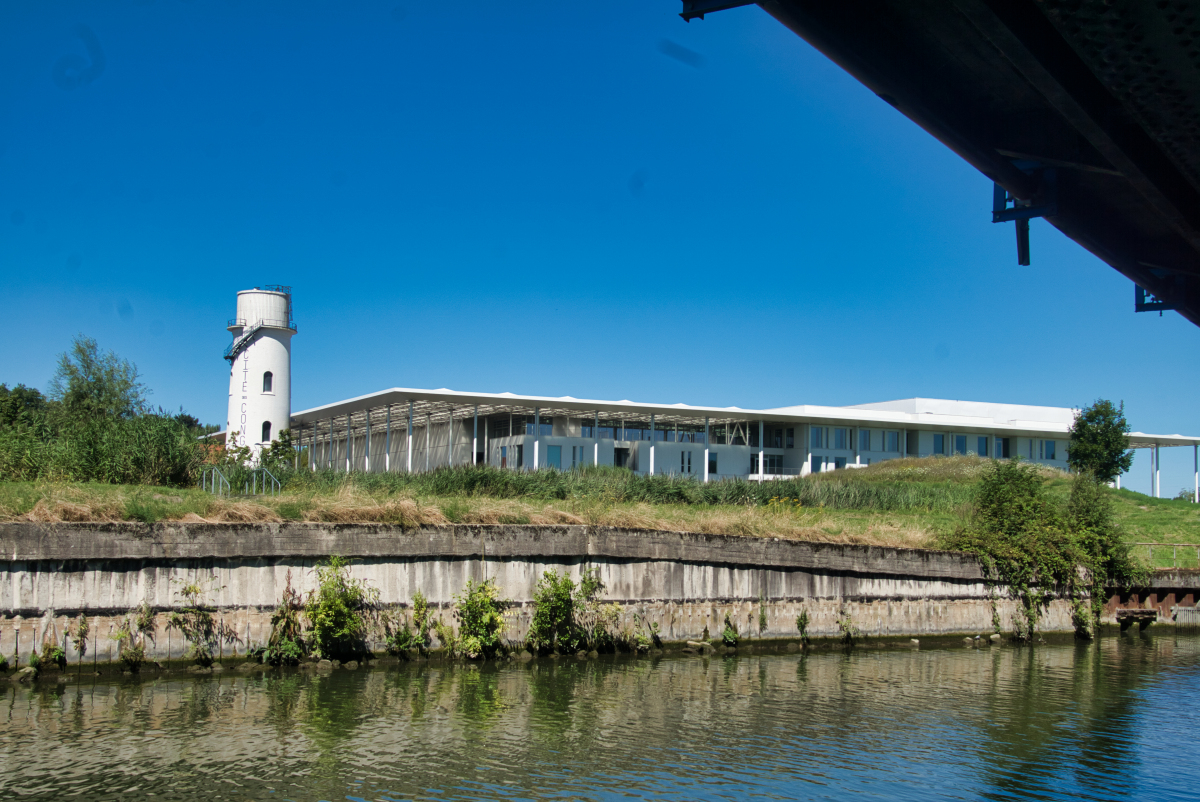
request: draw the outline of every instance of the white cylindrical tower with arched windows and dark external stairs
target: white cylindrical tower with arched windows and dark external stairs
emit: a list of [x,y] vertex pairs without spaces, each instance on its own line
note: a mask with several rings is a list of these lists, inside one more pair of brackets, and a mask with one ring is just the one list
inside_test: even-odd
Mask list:
[[[228,445],[248,445],[257,456],[292,418],[292,288],[277,285],[238,293],[229,321]],[[236,433],[236,437],[234,437]]]

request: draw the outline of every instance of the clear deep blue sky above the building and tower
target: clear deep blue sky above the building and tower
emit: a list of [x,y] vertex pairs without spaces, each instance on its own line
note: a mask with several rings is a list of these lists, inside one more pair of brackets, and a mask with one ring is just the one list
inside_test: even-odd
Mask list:
[[1109,397],[1200,432],[1200,330],[1042,221],[1018,267],[983,175],[762,10],[679,5],[0,5],[0,381],[84,333],[220,423],[235,293],[286,283],[294,409]]

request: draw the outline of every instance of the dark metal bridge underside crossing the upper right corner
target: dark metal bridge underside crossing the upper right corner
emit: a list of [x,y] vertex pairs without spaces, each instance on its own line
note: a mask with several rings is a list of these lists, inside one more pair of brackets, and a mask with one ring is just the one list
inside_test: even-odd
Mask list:
[[1195,2],[758,5],[1027,207],[1002,220],[1044,216],[1145,288],[1146,309],[1200,324]]

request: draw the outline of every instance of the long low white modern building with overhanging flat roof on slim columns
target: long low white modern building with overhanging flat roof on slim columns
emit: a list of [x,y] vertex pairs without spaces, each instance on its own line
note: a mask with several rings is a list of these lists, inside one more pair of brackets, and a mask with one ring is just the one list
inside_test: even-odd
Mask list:
[[[314,469],[613,465],[712,481],[956,454],[1020,456],[1066,469],[1074,414],[1062,407],[938,399],[742,409],[395,388],[294,413],[289,425]],[[1153,449],[1156,496],[1160,448],[1192,445],[1193,459],[1200,457],[1200,437],[1134,432],[1130,444]],[[1196,487],[1200,492],[1200,481]]]

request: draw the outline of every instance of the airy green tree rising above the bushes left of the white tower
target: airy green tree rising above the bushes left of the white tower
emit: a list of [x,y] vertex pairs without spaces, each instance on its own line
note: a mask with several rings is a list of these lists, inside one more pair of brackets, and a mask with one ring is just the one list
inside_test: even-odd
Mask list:
[[49,395],[72,418],[133,418],[145,409],[146,388],[138,378],[136,365],[101,353],[95,340],[79,334],[59,355]]

